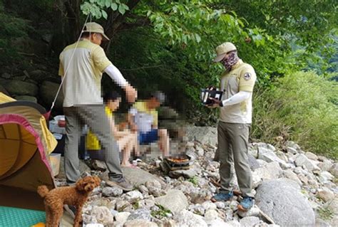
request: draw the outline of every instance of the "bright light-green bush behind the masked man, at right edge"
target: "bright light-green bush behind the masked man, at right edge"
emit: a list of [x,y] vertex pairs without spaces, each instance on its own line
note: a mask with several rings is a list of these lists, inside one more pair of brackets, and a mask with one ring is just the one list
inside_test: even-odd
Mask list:
[[338,84],[313,72],[290,73],[270,90],[257,90],[252,136],[282,136],[305,150],[338,158]]

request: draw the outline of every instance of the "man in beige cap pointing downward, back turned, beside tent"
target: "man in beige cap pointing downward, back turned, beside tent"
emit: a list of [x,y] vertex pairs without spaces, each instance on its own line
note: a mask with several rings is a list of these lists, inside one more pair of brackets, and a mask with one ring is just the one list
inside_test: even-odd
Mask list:
[[65,172],[69,184],[80,178],[78,138],[83,125],[88,125],[105,149],[109,170],[108,184],[130,191],[133,186],[121,171],[118,145],[113,138],[101,97],[102,73],[107,73],[126,92],[128,102],[134,102],[137,91],[106,57],[102,40],[109,40],[98,23],[86,23],[80,41],[63,49],[59,75],[63,77],[63,112],[66,116]]

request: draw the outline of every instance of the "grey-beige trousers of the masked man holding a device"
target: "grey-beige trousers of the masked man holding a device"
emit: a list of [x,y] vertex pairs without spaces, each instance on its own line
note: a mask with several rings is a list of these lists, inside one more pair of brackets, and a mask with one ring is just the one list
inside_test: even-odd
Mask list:
[[243,196],[252,194],[252,176],[247,157],[250,124],[219,122],[217,127],[218,147],[215,159],[220,162],[220,192],[232,191],[230,182],[235,165],[238,185]]

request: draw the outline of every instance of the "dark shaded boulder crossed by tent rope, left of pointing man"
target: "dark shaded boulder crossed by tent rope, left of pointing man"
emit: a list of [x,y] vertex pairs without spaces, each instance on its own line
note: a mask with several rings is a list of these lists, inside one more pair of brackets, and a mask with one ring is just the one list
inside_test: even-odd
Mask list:
[[[51,106],[51,103],[53,102],[55,95],[58,91],[58,87],[59,84],[52,83],[49,81],[43,81],[43,83],[41,83],[39,95],[44,105],[47,105],[48,107]],[[58,93],[58,97],[56,99],[54,107],[57,110],[62,110],[62,105],[63,105],[63,92],[62,90],[60,90],[60,93]]]

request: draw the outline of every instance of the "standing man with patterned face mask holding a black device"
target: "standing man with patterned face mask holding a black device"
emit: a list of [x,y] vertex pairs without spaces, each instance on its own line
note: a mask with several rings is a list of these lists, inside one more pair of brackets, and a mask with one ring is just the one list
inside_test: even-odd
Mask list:
[[213,107],[220,107],[220,121],[217,127],[217,158],[220,161],[220,193],[212,201],[227,201],[233,196],[230,181],[231,166],[235,165],[238,185],[243,199],[238,205],[247,211],[254,204],[252,176],[247,157],[247,145],[252,118],[252,90],[255,85],[254,68],[237,56],[232,43],[222,43],[216,48],[215,62],[225,67],[220,82],[222,100],[214,100]]

